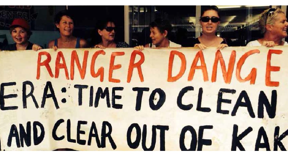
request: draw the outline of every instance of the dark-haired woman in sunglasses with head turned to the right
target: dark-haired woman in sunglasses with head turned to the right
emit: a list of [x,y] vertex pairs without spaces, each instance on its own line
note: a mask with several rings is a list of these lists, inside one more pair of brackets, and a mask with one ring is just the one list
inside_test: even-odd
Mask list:
[[128,48],[129,44],[126,42],[115,42],[116,27],[112,19],[105,19],[98,23],[97,33],[99,40],[97,41],[95,48]]

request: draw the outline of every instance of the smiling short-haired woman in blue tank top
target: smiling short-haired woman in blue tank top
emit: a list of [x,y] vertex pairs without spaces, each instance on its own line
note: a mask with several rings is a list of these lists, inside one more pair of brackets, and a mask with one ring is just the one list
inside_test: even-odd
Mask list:
[[85,48],[87,42],[84,39],[73,36],[74,22],[71,14],[67,11],[58,12],[55,17],[55,26],[60,32],[60,38],[49,42],[48,47],[55,51],[58,48]]

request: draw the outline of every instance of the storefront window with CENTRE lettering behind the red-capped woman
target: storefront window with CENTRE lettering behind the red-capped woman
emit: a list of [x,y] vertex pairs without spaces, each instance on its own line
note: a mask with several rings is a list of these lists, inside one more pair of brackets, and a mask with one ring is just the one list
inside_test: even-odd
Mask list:
[[44,48],[47,43],[58,37],[54,15],[66,6],[0,6],[0,48],[14,43],[9,32],[13,19],[23,18],[29,23],[32,35],[29,41]]

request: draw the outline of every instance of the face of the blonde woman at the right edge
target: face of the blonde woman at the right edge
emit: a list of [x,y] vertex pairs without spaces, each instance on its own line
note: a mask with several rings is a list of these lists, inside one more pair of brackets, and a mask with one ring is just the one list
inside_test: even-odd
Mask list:
[[288,22],[285,14],[278,13],[275,17],[275,22],[271,25],[271,34],[280,38],[287,37]]

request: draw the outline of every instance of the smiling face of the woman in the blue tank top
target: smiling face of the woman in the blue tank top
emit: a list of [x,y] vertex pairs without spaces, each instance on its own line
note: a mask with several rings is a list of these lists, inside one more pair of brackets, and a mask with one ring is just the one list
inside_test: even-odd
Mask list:
[[55,24],[56,27],[59,29],[61,35],[64,36],[71,36],[74,29],[73,20],[70,19],[68,16],[62,16],[59,24]]

